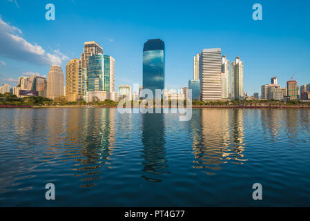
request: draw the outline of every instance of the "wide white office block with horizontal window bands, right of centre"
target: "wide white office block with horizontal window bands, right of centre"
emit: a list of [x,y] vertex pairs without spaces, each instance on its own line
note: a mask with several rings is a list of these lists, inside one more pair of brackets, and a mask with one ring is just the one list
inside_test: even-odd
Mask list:
[[203,102],[221,100],[221,48],[202,50],[199,58],[200,99]]

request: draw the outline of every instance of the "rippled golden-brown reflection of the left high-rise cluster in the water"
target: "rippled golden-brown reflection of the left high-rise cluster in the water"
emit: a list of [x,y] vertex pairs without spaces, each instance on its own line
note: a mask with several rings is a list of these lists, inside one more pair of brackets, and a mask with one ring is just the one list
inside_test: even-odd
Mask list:
[[[110,164],[115,144],[115,109],[114,108],[82,108],[70,110],[67,118],[66,157],[79,162],[79,168],[73,171],[86,171],[82,181],[98,180],[101,177],[97,169]],[[95,164],[95,165],[94,165]],[[110,168],[110,166],[107,166]],[[94,177],[96,175],[97,177]],[[75,176],[81,176],[75,174]],[[94,186],[84,184],[82,187]]]

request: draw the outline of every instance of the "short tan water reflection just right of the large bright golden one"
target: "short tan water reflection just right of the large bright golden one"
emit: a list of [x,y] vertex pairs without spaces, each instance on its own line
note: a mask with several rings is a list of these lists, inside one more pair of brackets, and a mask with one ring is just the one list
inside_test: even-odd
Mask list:
[[282,117],[282,110],[268,110],[262,109],[261,113],[261,122],[262,129],[264,130],[264,135],[271,135],[273,140],[276,140],[278,131],[280,131],[280,118]]

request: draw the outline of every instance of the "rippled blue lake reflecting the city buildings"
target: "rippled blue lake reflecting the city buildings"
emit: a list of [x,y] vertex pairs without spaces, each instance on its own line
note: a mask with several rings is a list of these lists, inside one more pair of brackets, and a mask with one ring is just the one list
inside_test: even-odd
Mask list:
[[0,206],[310,206],[309,188],[309,109],[0,108]]

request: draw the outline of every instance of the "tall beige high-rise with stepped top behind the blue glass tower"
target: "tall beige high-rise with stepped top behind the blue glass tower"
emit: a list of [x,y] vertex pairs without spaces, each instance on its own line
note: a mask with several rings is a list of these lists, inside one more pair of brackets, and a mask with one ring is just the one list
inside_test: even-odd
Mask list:
[[93,55],[103,55],[104,49],[95,41],[84,42],[84,52],[79,60],[79,73],[77,79],[77,99],[86,101],[86,91],[88,91],[88,59]]

